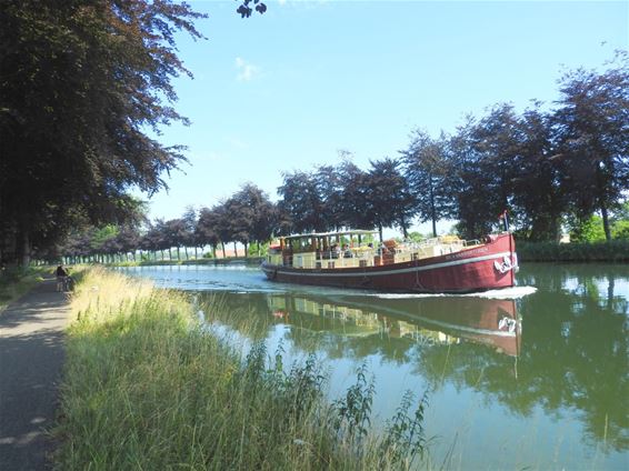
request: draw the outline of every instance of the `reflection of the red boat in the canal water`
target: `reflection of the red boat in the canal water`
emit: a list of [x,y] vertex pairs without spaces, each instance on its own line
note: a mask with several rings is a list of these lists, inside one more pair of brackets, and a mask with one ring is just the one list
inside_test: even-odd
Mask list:
[[519,354],[521,320],[516,301],[476,297],[316,297],[271,294],[272,315],[307,330],[345,337],[386,334],[420,342],[487,344]]

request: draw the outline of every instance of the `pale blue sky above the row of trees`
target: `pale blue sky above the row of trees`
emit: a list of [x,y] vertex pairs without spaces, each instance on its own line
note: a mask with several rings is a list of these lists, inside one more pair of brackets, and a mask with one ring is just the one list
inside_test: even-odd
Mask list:
[[149,200],[151,219],[247,182],[277,201],[282,172],[338,163],[339,150],[366,170],[413,129],[452,133],[499,102],[551,107],[562,73],[629,49],[627,0],[264,1],[249,19],[233,0],[189,1],[209,16],[197,21],[207,40],[178,37],[194,78],[173,80],[174,106],[191,126],[159,137],[189,162]]

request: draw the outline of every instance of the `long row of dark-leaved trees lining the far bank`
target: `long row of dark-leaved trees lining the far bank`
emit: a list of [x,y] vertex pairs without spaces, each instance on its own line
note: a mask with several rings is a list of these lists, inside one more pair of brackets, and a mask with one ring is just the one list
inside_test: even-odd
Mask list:
[[104,229],[84,222],[66,241],[64,231],[48,231],[34,253],[154,254],[209,245],[216,257],[217,248],[224,254],[224,244],[237,251],[239,242],[247,254],[251,243],[274,236],[347,227],[399,228],[408,237],[413,222],[431,221],[436,234],[438,220],[458,221],[453,231],[476,239],[498,229],[505,208],[519,240],[557,241],[561,228],[577,240],[628,239],[627,90],[629,60],[618,54],[602,73],[579,69],[562,77],[555,109],[537,103],[518,113],[497,104],[451,136],[416,130],[397,159],[372,160],[367,169],[341,152],[338,166],[283,173],[277,202],[248,183],[211,208],[150,223],[142,206],[129,202],[117,217],[123,222]]

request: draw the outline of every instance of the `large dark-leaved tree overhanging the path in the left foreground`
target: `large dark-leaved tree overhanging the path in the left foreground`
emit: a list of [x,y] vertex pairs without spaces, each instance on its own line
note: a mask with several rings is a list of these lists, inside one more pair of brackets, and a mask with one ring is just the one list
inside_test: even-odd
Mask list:
[[183,159],[147,134],[187,122],[171,78],[174,33],[203,17],[170,0],[6,0],[0,9],[0,258],[28,262],[77,218],[120,222],[137,186],[166,187]]

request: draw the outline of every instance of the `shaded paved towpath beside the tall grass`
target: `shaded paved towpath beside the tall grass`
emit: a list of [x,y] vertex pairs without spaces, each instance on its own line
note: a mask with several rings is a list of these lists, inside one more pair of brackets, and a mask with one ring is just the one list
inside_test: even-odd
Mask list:
[[70,308],[44,280],[0,313],[0,470],[44,470]]

